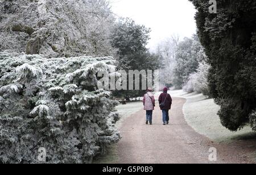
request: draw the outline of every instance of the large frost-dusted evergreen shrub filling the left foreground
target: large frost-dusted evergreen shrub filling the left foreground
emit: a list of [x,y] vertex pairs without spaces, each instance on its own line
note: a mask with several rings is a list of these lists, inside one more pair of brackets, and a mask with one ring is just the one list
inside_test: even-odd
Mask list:
[[91,163],[120,136],[117,101],[97,89],[111,57],[46,59],[0,53],[0,163]]

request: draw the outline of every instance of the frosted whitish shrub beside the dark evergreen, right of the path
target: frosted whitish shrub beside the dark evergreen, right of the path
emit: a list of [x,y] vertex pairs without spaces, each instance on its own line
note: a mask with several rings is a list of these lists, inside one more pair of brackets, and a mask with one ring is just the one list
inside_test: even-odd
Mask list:
[[210,66],[205,62],[199,64],[199,68],[196,73],[192,73],[189,76],[187,84],[183,89],[189,93],[196,91],[197,93],[209,94],[208,87],[208,73]]

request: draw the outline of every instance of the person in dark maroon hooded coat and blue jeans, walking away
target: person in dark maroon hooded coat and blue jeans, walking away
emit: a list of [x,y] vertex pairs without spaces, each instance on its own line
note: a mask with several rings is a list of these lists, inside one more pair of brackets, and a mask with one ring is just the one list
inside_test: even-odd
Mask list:
[[168,88],[164,87],[163,93],[159,96],[159,104],[164,103],[163,107],[160,107],[163,112],[163,124],[169,124],[169,111],[171,110],[172,106],[172,97],[170,94],[167,93]]

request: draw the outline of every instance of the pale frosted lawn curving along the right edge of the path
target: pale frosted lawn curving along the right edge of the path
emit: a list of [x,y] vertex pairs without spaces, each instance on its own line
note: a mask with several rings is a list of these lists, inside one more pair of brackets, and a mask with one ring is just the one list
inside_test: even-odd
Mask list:
[[203,94],[186,93],[183,90],[170,91],[172,97],[187,99],[183,106],[185,120],[196,132],[217,142],[250,138],[255,135],[249,126],[241,131],[231,132],[221,125],[217,115],[220,106]]

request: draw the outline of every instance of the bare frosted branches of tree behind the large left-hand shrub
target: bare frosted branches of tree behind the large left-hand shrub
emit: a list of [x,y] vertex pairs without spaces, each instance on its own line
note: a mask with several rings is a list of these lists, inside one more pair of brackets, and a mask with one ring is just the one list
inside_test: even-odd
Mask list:
[[114,56],[114,20],[105,0],[1,0],[0,52]]

